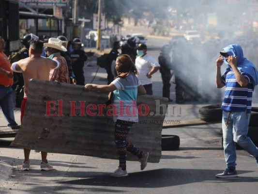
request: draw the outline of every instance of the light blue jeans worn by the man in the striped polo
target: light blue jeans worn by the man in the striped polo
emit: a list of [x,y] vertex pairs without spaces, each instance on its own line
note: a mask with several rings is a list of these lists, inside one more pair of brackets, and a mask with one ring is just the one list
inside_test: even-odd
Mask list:
[[246,136],[248,132],[250,115],[251,113],[246,112],[223,111],[223,147],[227,167],[235,167],[237,165],[235,142],[249,154],[255,158],[258,158],[258,148],[254,145],[252,140]]

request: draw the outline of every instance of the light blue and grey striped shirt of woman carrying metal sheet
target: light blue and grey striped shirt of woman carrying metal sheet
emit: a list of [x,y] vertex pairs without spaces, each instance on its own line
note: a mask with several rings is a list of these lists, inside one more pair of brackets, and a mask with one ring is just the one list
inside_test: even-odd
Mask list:
[[141,85],[138,78],[130,73],[127,77],[118,77],[112,81],[116,86],[116,90],[113,91],[113,104],[115,106],[116,113],[114,113],[114,121],[117,119],[123,121],[138,121],[137,111],[137,92],[138,86]]

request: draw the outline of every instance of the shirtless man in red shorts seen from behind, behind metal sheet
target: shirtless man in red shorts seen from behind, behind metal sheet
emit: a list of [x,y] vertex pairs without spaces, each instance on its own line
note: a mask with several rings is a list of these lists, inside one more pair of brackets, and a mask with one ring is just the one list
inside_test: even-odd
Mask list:
[[[30,42],[29,56],[12,64],[12,70],[20,72],[24,79],[24,98],[21,103],[21,122],[26,108],[27,95],[29,94],[28,85],[30,79],[49,80],[50,69],[59,67],[59,62],[41,56],[43,42],[41,40],[33,40]],[[46,160],[47,152],[41,151],[42,162],[40,164],[42,171],[53,170]],[[24,162],[22,170],[30,170],[30,149],[24,148]]]

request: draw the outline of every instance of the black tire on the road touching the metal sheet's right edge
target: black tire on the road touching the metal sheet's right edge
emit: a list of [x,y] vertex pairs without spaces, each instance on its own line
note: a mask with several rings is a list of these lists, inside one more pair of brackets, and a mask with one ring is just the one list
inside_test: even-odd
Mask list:
[[180,146],[180,138],[177,135],[162,135],[161,148],[164,151],[177,150]]

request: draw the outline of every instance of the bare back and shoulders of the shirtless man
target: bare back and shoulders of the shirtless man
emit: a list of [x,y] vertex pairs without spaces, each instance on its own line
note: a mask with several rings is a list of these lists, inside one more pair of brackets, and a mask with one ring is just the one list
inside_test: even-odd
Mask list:
[[49,58],[31,55],[15,63],[15,70],[20,71],[24,79],[24,95],[28,95],[30,79],[49,80],[50,69],[57,67],[57,62]]

